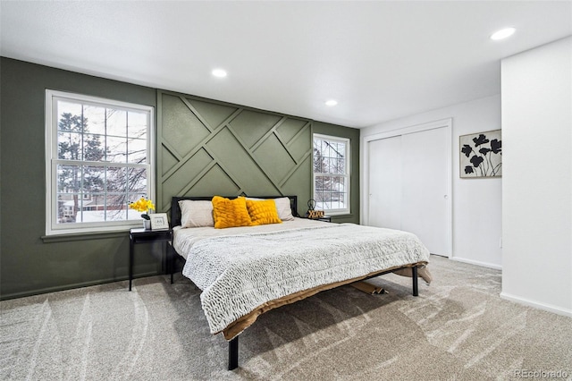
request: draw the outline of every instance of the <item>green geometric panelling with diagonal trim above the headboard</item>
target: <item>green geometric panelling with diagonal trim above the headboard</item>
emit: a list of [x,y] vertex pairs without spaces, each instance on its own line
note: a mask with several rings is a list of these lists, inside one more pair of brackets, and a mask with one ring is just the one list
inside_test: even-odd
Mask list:
[[312,121],[157,91],[157,211],[172,196],[299,196],[312,181]]

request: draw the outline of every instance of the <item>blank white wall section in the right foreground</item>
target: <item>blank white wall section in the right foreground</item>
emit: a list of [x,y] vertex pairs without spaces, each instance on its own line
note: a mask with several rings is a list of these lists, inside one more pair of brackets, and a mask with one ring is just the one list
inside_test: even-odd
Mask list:
[[572,38],[501,72],[501,297],[572,316]]

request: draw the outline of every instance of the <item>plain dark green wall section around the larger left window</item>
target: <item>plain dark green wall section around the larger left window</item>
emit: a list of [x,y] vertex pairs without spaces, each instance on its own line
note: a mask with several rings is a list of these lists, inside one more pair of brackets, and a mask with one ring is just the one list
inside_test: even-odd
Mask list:
[[[129,234],[44,241],[46,233],[46,89],[156,107],[156,89],[76,72],[0,61],[0,297],[51,292],[126,279]],[[79,240],[78,240],[79,239]],[[135,272],[152,275],[160,247],[139,245]]]

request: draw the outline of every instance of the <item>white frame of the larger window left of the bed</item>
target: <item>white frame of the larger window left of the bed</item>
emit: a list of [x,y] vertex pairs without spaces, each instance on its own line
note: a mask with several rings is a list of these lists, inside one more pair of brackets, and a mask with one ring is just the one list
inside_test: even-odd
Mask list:
[[[131,227],[140,227],[141,220],[105,221],[105,222],[81,222],[70,224],[57,224],[57,165],[65,160],[57,157],[57,126],[58,113],[57,101],[69,100],[94,106],[105,106],[148,113],[147,123],[147,162],[145,164],[119,164],[126,167],[139,166],[147,169],[147,197],[154,200],[156,196],[155,183],[155,109],[152,106],[137,105],[102,97],[91,97],[70,92],[46,89],[46,235],[70,234],[70,233],[98,233],[125,231]],[[88,162],[89,165],[94,164]],[[109,162],[102,162],[102,165]],[[98,165],[98,164],[96,164]],[[118,165],[114,163],[114,165]]]

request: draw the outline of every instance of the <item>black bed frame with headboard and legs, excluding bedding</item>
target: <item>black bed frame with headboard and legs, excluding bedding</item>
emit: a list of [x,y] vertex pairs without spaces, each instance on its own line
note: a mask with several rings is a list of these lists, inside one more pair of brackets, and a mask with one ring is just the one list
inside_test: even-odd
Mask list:
[[[236,199],[238,196],[231,196],[228,199]],[[257,199],[276,199],[279,197],[288,197],[290,199],[290,208],[292,209],[292,216],[298,216],[298,197],[297,196],[256,196]],[[190,200],[211,200],[213,197],[173,197],[171,200],[171,226],[179,226],[181,225],[181,207],[179,207],[179,201],[190,199]],[[173,283],[172,276],[174,273],[174,267],[176,264],[177,258],[181,258],[184,260],[179,253],[172,247],[172,242],[168,244],[168,253],[167,253],[167,270],[171,274],[171,284]],[[351,280],[349,284],[353,282],[357,282],[358,280],[366,280],[370,278],[374,278],[379,275],[389,274],[396,270],[404,269],[404,268],[411,268],[412,270],[412,280],[413,280],[413,296],[419,295],[418,283],[417,283],[417,266],[404,266],[398,268],[391,268],[391,270],[380,271],[378,273],[374,273],[373,275],[367,275],[363,278]],[[228,362],[228,369],[232,370],[239,367],[239,335],[236,335],[229,341],[229,362]]]

